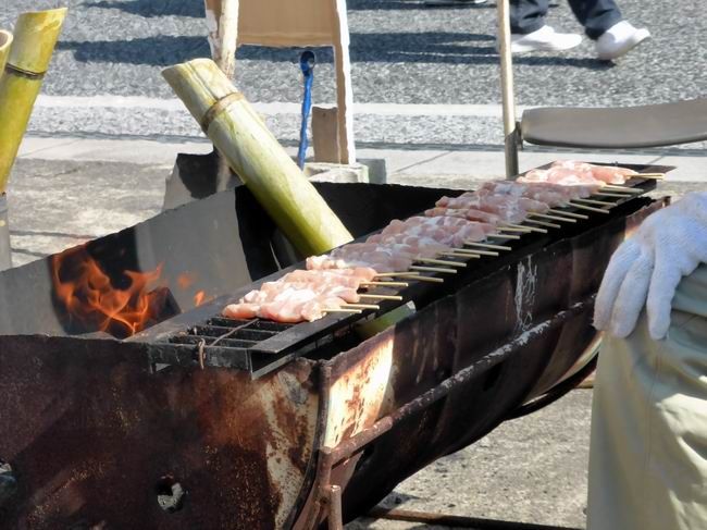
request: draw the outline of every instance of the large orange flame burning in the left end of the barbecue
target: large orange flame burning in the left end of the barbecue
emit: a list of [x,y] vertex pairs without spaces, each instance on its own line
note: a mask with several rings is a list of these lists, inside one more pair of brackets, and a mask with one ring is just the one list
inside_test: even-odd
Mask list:
[[84,247],[52,257],[54,293],[70,318],[121,338],[159,321],[169,292],[148,287],[161,273],[162,264],[149,272],[124,271],[127,285],[117,287]]

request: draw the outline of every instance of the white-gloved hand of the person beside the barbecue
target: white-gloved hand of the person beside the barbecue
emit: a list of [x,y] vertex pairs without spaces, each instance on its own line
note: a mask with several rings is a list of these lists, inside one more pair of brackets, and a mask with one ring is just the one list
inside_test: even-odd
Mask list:
[[648,217],[613,254],[596,297],[594,326],[625,337],[645,304],[650,336],[663,338],[675,288],[702,262],[707,262],[707,193],[693,193]]

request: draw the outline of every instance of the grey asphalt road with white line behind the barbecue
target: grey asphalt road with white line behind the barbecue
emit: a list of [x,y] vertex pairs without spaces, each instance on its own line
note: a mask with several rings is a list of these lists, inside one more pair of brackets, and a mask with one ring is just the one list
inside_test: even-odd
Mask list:
[[[0,27],[28,9],[54,7],[55,0],[7,0]],[[178,104],[164,108],[173,94],[160,71],[207,57],[202,0],[65,0],[70,8],[44,94],[70,98],[57,107],[47,100],[35,112],[30,134],[95,137],[196,138],[198,127]],[[707,59],[707,17],[690,0],[623,0],[630,21],[645,25],[653,39],[617,63],[595,59],[585,38],[562,53],[514,60],[520,106],[645,104],[707,94],[700,65]],[[495,49],[495,2],[476,7],[430,8],[420,0],[350,0],[354,97],[379,103],[387,115],[356,115],[357,143],[367,147],[430,145],[499,146],[500,120],[484,108],[500,103]],[[548,23],[581,30],[566,2],[553,3]],[[243,47],[236,84],[250,101],[299,103],[299,49]],[[317,49],[314,102],[334,100],[332,53]],[[86,98],[99,97],[98,102]],[[139,108],[121,98],[140,97]],[[477,113],[450,106],[480,106]],[[413,106],[400,107],[400,106]],[[414,107],[418,106],[418,107]],[[296,107],[281,109],[270,125],[278,138],[294,141]],[[496,112],[497,113],[497,112]],[[698,146],[704,147],[704,146]]]

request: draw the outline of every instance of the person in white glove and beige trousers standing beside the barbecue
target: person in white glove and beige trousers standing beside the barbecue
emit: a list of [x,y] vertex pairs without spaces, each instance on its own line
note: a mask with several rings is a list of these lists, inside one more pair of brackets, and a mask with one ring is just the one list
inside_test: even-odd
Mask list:
[[587,530],[706,528],[707,193],[619,247],[594,324]]

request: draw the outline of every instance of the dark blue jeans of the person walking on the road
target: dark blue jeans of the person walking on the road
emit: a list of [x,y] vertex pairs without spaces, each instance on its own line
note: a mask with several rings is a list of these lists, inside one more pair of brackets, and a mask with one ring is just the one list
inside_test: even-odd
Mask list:
[[[545,25],[549,0],[510,0],[510,30],[529,34]],[[570,8],[584,33],[593,40],[621,22],[621,11],[613,0],[569,0]]]

